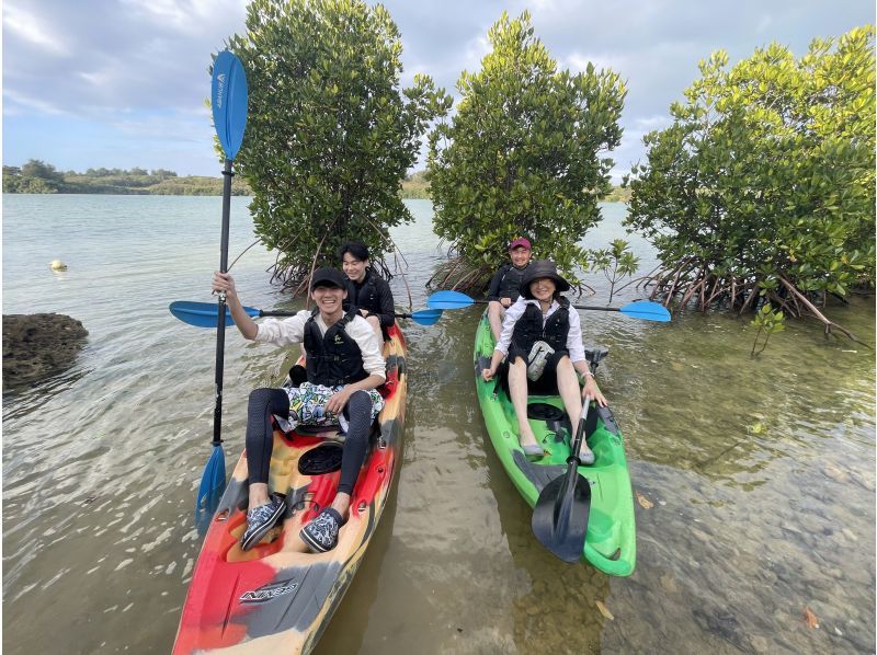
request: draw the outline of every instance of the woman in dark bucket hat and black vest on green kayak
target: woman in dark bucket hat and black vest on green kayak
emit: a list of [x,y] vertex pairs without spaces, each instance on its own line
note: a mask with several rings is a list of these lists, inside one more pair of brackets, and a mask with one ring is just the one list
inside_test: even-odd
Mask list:
[[[582,399],[606,405],[584,357],[579,313],[571,311],[569,300],[560,295],[569,288],[554,262],[533,262],[521,281],[521,298],[505,312],[490,368],[481,371],[490,381],[508,356],[509,395],[517,417],[519,439],[531,457],[543,457],[544,448],[527,422],[528,393],[558,393],[572,425],[579,423]],[[585,378],[581,395],[577,371]],[[583,464],[594,463],[594,453],[584,440],[580,459]]]

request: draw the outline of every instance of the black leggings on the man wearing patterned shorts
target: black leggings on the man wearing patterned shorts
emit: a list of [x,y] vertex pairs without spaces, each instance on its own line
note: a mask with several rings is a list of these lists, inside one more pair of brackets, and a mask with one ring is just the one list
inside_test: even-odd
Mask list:
[[[255,389],[250,392],[247,410],[247,468],[250,484],[267,484],[271,450],[274,444],[271,415],[289,416],[289,397],[283,389]],[[348,438],[341,457],[341,481],[338,492],[351,494],[360,475],[368,449],[372,427],[372,397],[366,391],[355,391],[344,406],[348,420]]]

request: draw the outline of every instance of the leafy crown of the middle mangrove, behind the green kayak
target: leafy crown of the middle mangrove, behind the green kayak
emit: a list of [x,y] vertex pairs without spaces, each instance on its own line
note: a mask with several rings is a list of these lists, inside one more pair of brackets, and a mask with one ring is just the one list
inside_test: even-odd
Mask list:
[[612,71],[572,74],[534,37],[528,12],[503,12],[489,30],[481,70],[464,71],[451,124],[430,135],[428,177],[435,232],[469,266],[490,274],[509,242],[525,235],[534,253],[576,278],[577,245],[600,221],[610,189],[625,84]]

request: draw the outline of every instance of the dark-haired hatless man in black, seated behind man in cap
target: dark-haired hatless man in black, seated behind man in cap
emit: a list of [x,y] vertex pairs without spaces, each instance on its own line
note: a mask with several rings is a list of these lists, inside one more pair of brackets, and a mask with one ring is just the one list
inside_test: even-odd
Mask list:
[[369,266],[368,249],[356,241],[348,241],[339,251],[341,267],[348,276],[348,297],[344,310],[355,307],[384,341],[384,330],[396,323],[390,286]]

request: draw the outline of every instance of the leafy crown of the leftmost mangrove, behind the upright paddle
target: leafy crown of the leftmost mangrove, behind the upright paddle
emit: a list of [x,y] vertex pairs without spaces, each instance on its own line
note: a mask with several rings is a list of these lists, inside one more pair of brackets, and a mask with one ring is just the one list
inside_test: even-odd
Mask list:
[[413,220],[399,197],[430,120],[449,99],[426,76],[401,89],[401,39],[380,4],[254,0],[229,39],[247,70],[249,119],[237,165],[255,229],[294,284],[337,264],[348,239],[375,258]]

